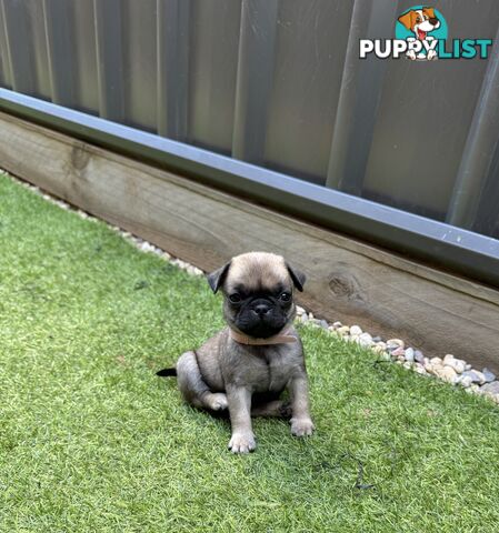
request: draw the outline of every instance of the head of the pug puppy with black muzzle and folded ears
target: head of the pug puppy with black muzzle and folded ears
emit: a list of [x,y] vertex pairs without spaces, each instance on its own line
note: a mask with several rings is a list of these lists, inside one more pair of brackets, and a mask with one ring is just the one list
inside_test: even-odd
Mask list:
[[223,292],[223,315],[230,326],[267,339],[293,319],[293,290],[303,290],[305,275],[281,255],[250,252],[209,274],[208,283],[213,292]]

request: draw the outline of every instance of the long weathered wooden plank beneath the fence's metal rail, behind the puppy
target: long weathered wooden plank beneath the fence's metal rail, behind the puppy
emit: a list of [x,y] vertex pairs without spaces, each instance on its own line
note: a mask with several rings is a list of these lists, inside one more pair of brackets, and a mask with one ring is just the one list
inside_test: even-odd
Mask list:
[[499,292],[0,113],[0,167],[203,270],[249,250],[308,274],[300,303],[499,371]]

